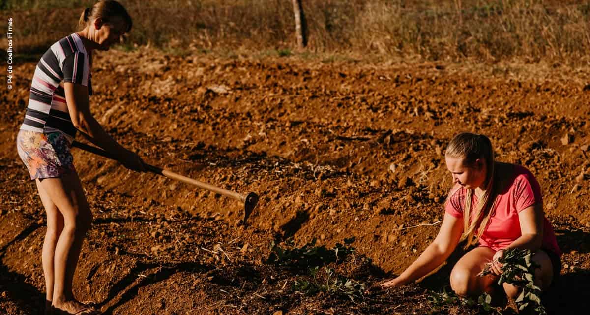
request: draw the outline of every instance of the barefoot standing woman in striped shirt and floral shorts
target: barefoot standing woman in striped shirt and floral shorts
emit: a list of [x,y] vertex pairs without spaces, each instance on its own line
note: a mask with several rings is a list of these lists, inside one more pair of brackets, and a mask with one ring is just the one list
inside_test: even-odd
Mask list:
[[53,44],[32,78],[27,113],[17,137],[47,213],[42,263],[46,312],[96,314],[74,298],[72,282],[92,213],[73,164],[70,145],[79,130],[90,141],[119,156],[127,168],[143,171],[142,159],[119,145],[90,113],[90,67],[94,50],[109,50],[132,27],[119,2],[98,1],[80,17],[80,31]]

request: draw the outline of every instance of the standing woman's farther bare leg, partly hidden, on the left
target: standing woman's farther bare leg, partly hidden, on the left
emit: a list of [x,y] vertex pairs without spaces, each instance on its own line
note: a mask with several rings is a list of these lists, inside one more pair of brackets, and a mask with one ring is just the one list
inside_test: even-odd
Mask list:
[[61,235],[61,231],[64,229],[64,216],[61,215],[55,203],[51,201],[51,197],[47,194],[47,191],[41,186],[41,181],[38,179],[36,181],[41,202],[45,207],[45,213],[47,213],[47,231],[45,231],[41,260],[43,263],[43,273],[45,274],[45,290],[47,291],[45,300],[51,301],[53,300],[55,245]]

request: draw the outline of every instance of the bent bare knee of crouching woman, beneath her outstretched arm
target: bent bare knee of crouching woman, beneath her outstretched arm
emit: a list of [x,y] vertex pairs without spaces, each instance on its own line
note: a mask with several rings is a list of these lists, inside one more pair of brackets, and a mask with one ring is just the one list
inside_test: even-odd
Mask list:
[[478,274],[496,252],[485,246],[479,246],[467,252],[451,271],[451,288],[461,297],[477,297],[481,293],[493,294],[496,275]]

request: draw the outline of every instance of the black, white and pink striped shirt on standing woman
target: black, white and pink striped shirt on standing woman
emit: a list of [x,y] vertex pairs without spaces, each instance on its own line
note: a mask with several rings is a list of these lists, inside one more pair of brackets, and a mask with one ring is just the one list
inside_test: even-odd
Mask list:
[[70,142],[74,140],[76,128],[65,103],[63,83],[87,86],[91,95],[90,59],[91,56],[76,33],[51,45],[35,68],[27,113],[21,129],[45,134],[59,131]]

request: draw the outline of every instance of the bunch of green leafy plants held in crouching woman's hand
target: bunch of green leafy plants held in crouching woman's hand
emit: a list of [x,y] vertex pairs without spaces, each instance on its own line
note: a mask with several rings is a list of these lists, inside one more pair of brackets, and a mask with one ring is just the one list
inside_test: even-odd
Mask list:
[[[504,257],[500,259],[503,267],[498,284],[501,286],[508,283],[522,288],[522,293],[514,301],[520,311],[546,314],[545,307],[541,304],[541,289],[535,285],[535,269],[540,266],[533,261],[532,257],[530,249],[508,249]],[[492,263],[486,264],[480,272],[481,276],[491,274]]]

